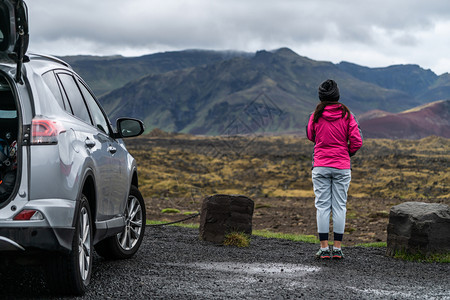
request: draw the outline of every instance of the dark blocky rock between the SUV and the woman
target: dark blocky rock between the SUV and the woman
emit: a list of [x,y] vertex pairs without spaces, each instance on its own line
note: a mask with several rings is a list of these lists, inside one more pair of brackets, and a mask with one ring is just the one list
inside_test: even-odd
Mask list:
[[203,200],[200,238],[223,243],[230,232],[252,234],[254,202],[240,195],[214,195]]

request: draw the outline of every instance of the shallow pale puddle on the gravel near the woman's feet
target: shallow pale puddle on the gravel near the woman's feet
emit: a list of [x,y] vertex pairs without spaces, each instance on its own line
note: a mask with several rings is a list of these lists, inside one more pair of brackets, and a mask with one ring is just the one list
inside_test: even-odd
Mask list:
[[248,275],[265,275],[274,277],[304,276],[308,273],[318,272],[320,268],[298,264],[279,263],[234,263],[234,262],[211,262],[187,264],[191,268],[203,270],[232,272]]

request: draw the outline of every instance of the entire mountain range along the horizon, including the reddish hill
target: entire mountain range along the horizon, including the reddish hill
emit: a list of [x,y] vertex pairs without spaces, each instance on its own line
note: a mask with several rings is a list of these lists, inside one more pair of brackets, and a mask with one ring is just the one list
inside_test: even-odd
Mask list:
[[[441,100],[450,99],[450,75],[438,76],[417,65],[333,64],[288,48],[63,59],[100,95],[111,119],[142,119],[147,131],[303,134],[318,103],[317,87],[332,78],[339,85],[340,101],[360,119],[366,137],[448,137],[449,132],[449,101]],[[395,130],[386,131],[387,123]],[[424,130],[419,134],[407,124],[421,124]]]

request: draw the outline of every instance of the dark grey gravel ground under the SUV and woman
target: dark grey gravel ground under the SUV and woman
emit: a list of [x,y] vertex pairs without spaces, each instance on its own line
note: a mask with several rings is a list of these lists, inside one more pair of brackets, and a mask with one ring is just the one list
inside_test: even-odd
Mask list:
[[[341,261],[316,261],[317,247],[261,237],[226,247],[200,241],[195,229],[148,227],[132,259],[96,256],[88,292],[74,299],[450,299],[450,264],[361,247],[345,248]],[[39,268],[0,276],[1,299],[56,299]]]

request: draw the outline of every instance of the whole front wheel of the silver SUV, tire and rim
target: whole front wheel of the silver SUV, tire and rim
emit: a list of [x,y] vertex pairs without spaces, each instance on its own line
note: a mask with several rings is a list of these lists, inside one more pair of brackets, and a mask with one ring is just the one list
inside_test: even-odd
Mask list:
[[144,198],[138,188],[131,186],[125,207],[123,232],[95,245],[97,253],[107,259],[126,259],[139,249],[145,233],[146,211]]

